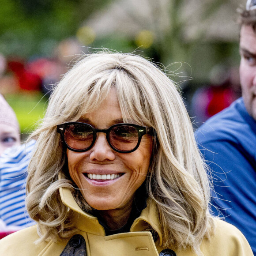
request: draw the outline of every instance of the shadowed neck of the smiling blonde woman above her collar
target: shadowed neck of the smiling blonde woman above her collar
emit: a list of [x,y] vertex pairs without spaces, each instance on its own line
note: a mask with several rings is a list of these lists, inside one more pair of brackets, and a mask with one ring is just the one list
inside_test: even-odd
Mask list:
[[98,214],[104,219],[110,230],[118,230],[128,222],[132,211],[132,203],[133,200],[123,208],[98,211]]

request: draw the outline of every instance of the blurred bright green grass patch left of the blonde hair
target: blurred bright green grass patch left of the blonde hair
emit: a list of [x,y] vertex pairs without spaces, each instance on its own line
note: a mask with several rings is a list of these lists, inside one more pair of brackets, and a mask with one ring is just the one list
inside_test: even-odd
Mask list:
[[41,93],[30,92],[5,95],[5,98],[17,115],[21,133],[32,132],[44,117],[47,98],[43,98]]

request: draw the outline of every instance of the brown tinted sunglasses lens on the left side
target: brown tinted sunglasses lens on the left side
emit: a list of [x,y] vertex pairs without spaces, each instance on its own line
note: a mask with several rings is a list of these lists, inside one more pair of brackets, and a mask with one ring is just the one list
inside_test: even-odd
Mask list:
[[65,130],[65,141],[73,149],[87,149],[93,141],[93,131],[85,124],[70,124]]

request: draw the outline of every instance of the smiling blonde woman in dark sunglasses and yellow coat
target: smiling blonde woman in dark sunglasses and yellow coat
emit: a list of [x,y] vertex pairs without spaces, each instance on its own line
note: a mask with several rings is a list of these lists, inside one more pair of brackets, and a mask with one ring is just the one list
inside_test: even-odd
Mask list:
[[32,137],[27,210],[38,224],[0,242],[3,255],[252,255],[239,230],[209,213],[181,96],[142,57],[80,60]]

